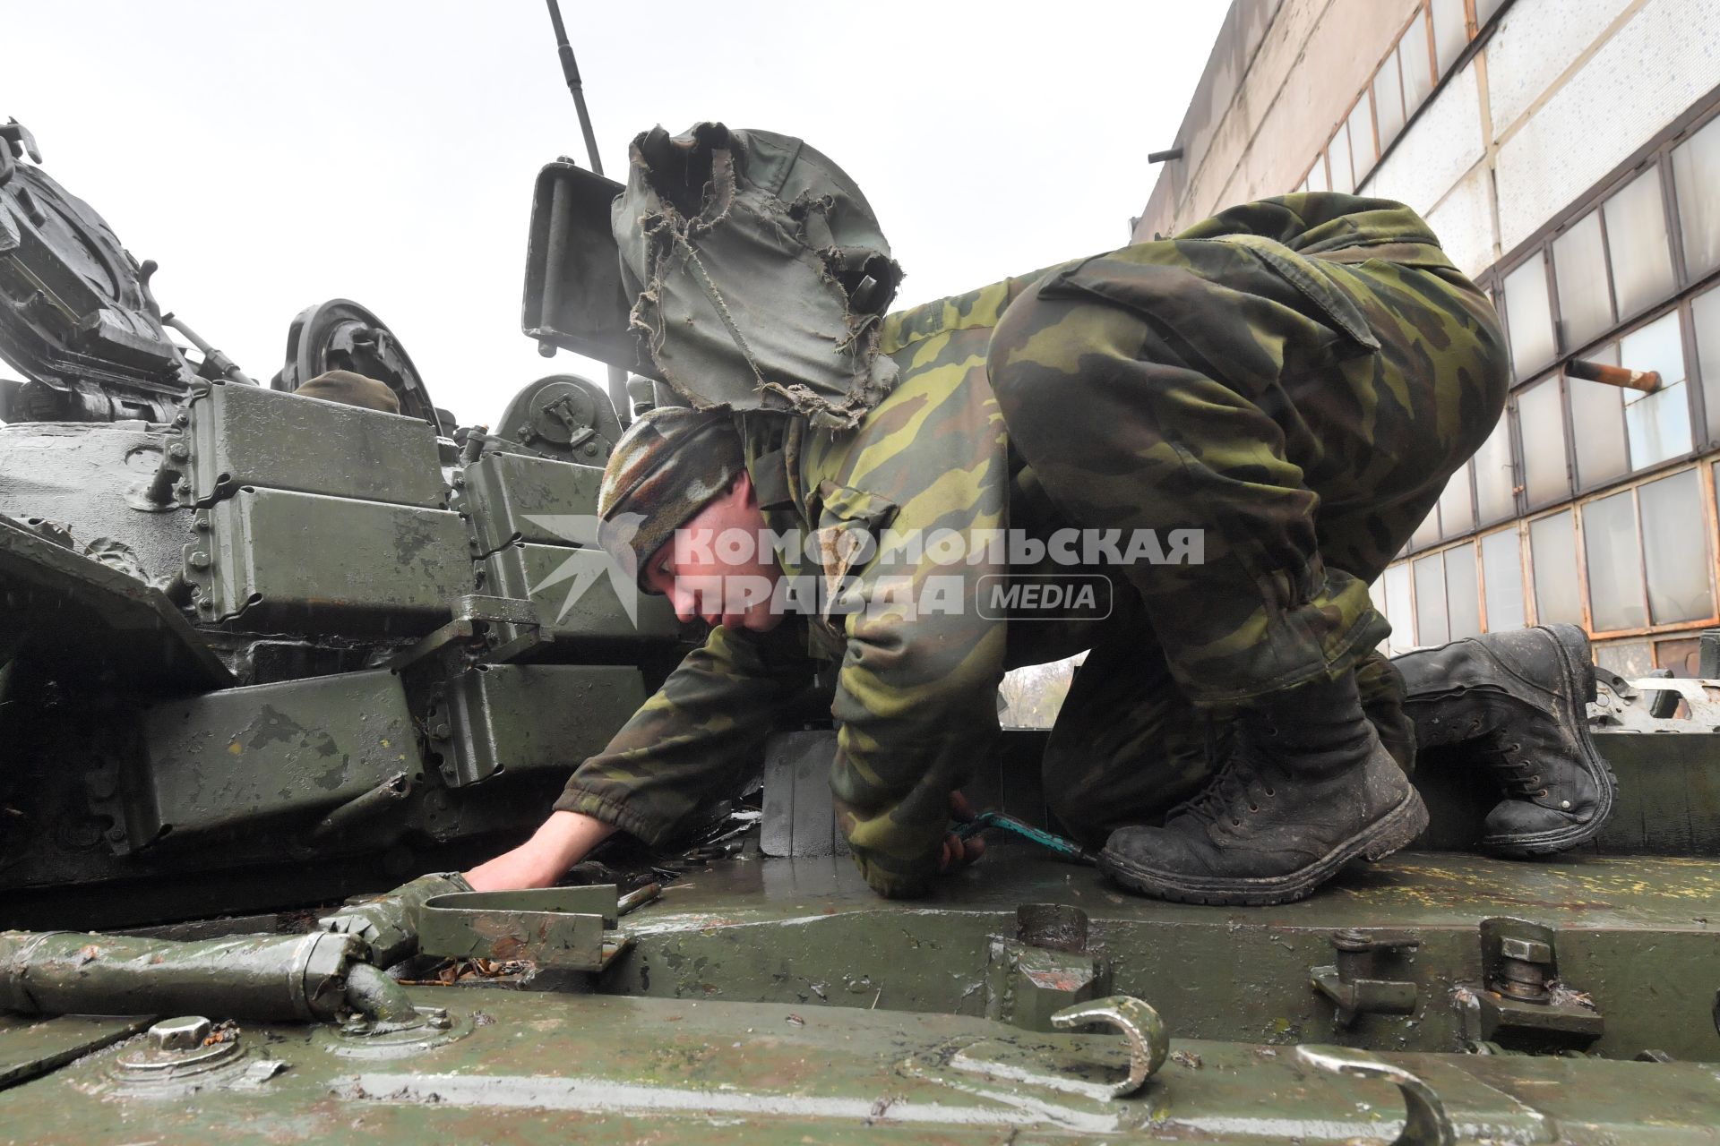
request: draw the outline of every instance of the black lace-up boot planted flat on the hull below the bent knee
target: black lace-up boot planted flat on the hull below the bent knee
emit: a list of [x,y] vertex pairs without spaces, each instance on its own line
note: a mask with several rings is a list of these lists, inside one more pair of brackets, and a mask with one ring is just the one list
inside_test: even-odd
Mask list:
[[1383,859],[1428,809],[1362,715],[1355,674],[1262,698],[1230,759],[1163,828],[1118,828],[1099,866],[1127,888],[1190,904],[1283,904],[1355,859]]

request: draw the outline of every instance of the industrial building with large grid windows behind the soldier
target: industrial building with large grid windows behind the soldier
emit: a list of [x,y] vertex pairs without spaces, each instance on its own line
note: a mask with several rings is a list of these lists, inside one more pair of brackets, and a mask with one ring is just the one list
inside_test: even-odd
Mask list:
[[1717,112],[1717,0],[1235,0],[1178,137],[1142,141],[1176,158],[1135,241],[1355,191],[1416,208],[1500,309],[1507,416],[1374,584],[1390,651],[1569,620],[1603,667],[1696,675],[1720,624]]

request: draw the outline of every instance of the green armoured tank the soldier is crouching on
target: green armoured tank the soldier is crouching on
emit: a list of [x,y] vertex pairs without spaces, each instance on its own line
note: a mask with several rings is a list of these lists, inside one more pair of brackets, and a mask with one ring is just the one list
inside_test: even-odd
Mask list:
[[[674,847],[409,885],[397,962],[327,930],[521,838],[685,651],[595,548],[635,411],[554,375],[458,426],[344,299],[260,385],[5,131],[5,1137],[1713,1141],[1720,634],[1705,680],[1600,674],[1620,801],[1553,861],[1476,854],[1495,794],[1433,759],[1429,833],[1304,902],[1137,899],[1018,728],[967,790],[996,847],[886,902],[808,718]],[[545,167],[523,332],[636,371],[612,189]],[[329,369],[401,412],[296,393]]]

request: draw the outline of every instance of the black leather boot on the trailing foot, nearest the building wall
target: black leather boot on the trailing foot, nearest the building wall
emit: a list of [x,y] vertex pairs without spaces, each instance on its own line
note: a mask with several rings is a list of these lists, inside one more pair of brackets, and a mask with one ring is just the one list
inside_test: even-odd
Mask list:
[[1391,663],[1404,674],[1417,749],[1453,747],[1505,792],[1481,847],[1545,856],[1601,830],[1619,782],[1589,739],[1594,665],[1582,629],[1490,632]]

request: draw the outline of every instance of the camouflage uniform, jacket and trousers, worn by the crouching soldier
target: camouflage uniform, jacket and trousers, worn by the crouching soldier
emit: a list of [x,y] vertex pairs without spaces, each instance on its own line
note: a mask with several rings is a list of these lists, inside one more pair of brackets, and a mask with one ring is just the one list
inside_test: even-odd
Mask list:
[[[1201,783],[1209,713],[1364,658],[1369,713],[1407,763],[1367,582],[1507,387],[1491,308],[1412,211],[1333,194],[1233,208],[893,314],[882,347],[896,387],[851,433],[736,419],[772,527],[819,529],[812,572],[857,576],[845,603],[872,605],[808,629],[841,658],[831,789],[874,888],[931,880],[948,794],[991,749],[1003,672],[1084,648],[1046,790],[1089,840]],[[958,576],[967,608],[918,617],[886,603],[903,572],[889,552],[843,567],[848,531],[1004,526],[1194,527],[1206,560],[1111,569],[1128,589],[1116,613],[1061,624],[980,617],[980,577],[1022,572],[1001,564],[922,560],[915,581]],[[788,574],[808,564],[783,555]],[[731,792],[805,682],[791,639],[714,632],[557,808],[660,840]]]

